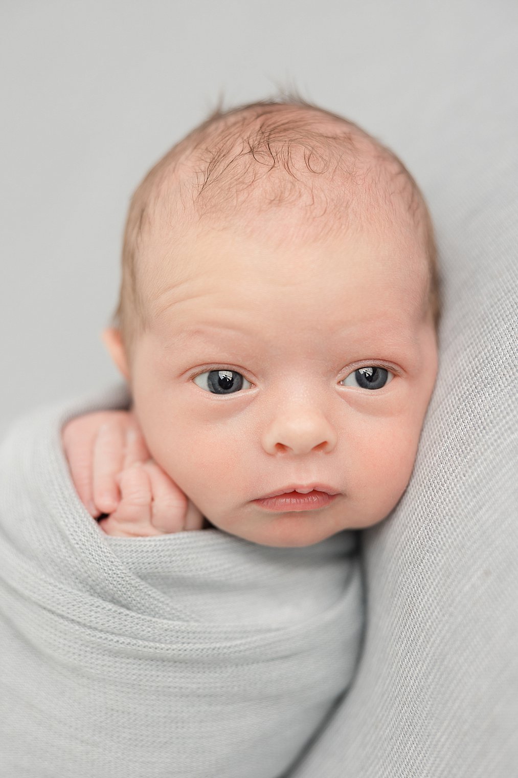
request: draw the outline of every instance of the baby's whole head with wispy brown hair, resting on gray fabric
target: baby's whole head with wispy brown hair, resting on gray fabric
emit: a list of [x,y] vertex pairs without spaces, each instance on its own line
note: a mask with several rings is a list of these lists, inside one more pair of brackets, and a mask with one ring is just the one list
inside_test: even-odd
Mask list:
[[[408,485],[438,286],[425,202],[392,152],[302,100],[254,103],[217,111],[138,187],[104,338],[152,457],[201,513],[311,545],[376,524]],[[255,502],[313,485],[337,494]]]

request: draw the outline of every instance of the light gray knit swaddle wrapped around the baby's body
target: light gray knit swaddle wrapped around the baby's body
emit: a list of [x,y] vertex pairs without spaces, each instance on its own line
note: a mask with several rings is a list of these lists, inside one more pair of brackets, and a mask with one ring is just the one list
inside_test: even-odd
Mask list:
[[357,533],[103,534],[60,431],[124,394],[33,412],[0,449],[0,774],[280,776],[352,680]]

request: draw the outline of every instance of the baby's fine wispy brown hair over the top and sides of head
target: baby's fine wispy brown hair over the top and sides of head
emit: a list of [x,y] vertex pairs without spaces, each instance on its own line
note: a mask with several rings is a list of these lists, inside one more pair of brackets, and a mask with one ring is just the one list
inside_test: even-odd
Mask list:
[[[334,187],[335,194],[325,186],[330,180],[340,184]],[[361,186],[347,202],[346,193],[355,183]],[[393,195],[403,200],[422,234],[429,260],[427,306],[437,331],[440,279],[432,220],[418,185],[394,152],[354,122],[308,102],[294,90],[229,110],[222,110],[220,99],[208,118],[152,167],[131,199],[121,293],[112,320],[112,326],[121,331],[128,361],[136,336],[147,327],[139,259],[160,208],[169,209],[166,224],[171,233],[180,232],[193,219],[231,220],[236,213],[246,230],[250,213],[257,216],[302,202],[311,209],[313,224],[318,217],[332,217],[320,219],[323,235],[347,222],[345,205],[352,207],[354,199],[361,201],[355,211],[361,217],[362,206],[379,201],[380,196],[390,214]],[[249,199],[248,208],[243,207]]]

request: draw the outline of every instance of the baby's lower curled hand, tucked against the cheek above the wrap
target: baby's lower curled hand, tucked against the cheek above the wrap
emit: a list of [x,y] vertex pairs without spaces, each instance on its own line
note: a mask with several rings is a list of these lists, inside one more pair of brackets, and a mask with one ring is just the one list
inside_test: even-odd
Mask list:
[[151,459],[137,462],[117,476],[121,503],[99,526],[121,538],[201,530],[203,517],[194,503]]

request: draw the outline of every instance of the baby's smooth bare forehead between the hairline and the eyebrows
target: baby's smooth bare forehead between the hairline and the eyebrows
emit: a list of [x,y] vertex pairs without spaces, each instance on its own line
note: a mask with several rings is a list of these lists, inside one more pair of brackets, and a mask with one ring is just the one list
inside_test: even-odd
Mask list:
[[411,235],[405,240],[372,223],[365,230],[313,233],[306,240],[308,234],[292,230],[292,223],[262,218],[250,230],[242,223],[231,229],[198,224],[173,251],[155,244],[149,272],[142,276],[150,321],[178,303],[182,311],[198,312],[200,301],[203,310],[222,311],[239,300],[240,320],[247,310],[273,310],[277,304],[288,310],[296,300],[300,310],[324,305],[338,311],[346,305],[352,306],[349,313],[387,296],[393,310],[408,309],[412,300],[424,304],[427,263]]

